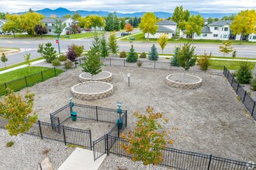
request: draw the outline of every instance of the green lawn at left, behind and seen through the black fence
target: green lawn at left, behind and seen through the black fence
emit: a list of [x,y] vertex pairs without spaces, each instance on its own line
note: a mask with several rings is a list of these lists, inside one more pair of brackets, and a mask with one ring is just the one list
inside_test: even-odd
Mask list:
[[[63,70],[56,69],[56,75],[62,73]],[[25,78],[26,76],[26,78]],[[8,73],[0,74],[0,96],[5,94],[6,87],[18,91],[25,87],[31,87],[43,80],[50,79],[55,76],[54,68],[31,66],[19,70],[13,70]]]

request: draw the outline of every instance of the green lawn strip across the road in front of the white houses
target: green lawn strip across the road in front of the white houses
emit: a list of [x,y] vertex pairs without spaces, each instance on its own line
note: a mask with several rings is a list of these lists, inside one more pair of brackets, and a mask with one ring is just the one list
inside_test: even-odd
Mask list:
[[[148,42],[147,39],[144,38],[144,33],[140,32],[137,35],[133,36],[135,38],[135,40],[133,41],[142,41],[142,42]],[[175,40],[176,39],[176,40]],[[123,37],[123,39],[120,39],[123,41],[130,41],[130,37],[129,39],[127,39],[126,37]],[[157,39],[149,39],[149,42],[157,42]],[[214,40],[214,39],[178,39],[177,37],[172,37],[171,39],[168,40],[169,43],[185,43],[185,42],[194,42],[194,43],[215,43],[215,44],[222,44],[222,40]],[[239,41],[235,41],[232,40],[232,44],[240,44]],[[247,41],[243,41],[242,44],[251,44],[251,45],[256,45],[256,42],[247,42]]]

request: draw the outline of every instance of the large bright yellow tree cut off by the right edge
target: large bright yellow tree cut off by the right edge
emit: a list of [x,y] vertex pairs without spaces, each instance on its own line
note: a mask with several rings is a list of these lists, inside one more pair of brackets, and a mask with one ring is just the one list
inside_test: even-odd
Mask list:
[[252,10],[245,10],[238,12],[234,21],[230,25],[230,29],[233,34],[240,34],[240,42],[243,39],[243,36],[247,36],[251,33],[256,33],[256,11]]

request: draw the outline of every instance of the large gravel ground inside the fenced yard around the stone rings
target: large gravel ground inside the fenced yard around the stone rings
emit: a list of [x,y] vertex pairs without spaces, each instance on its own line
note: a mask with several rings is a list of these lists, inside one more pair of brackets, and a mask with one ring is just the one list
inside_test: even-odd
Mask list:
[[[256,162],[255,122],[223,76],[190,73],[202,78],[202,87],[190,90],[170,87],[164,83],[169,74],[183,72],[115,66],[104,66],[103,70],[112,73],[111,83],[115,93],[110,97],[89,101],[73,97],[75,103],[117,108],[116,102],[122,102],[123,110],[128,110],[126,131],[133,130],[136,124],[133,112],[144,112],[147,105],[150,105],[169,118],[164,128],[178,129],[170,134],[174,141],[173,148]],[[31,92],[36,93],[34,109],[40,121],[50,122],[49,114],[69,102],[71,87],[79,83],[80,73],[81,67],[78,67],[30,88]],[[130,73],[130,87],[127,84],[127,73]],[[21,93],[25,93],[25,90]],[[70,123],[65,125],[75,127],[73,122]],[[102,134],[106,131],[101,125],[93,127],[102,131]],[[31,138],[36,140],[35,137]],[[64,146],[62,143],[59,145]],[[4,162],[7,160],[4,159]]]

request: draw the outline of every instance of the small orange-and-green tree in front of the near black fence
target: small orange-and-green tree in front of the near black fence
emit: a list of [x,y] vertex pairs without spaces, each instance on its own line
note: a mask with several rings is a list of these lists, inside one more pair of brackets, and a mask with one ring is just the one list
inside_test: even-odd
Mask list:
[[[162,113],[154,113],[152,107],[147,107],[146,114],[135,112],[133,116],[138,119],[136,128],[120,135],[129,141],[128,144],[121,144],[121,148],[132,156],[133,162],[141,161],[148,169],[149,165],[158,165],[163,161],[162,149],[166,148],[168,131],[162,130],[162,124],[168,119]],[[170,144],[172,142],[169,140]]]

